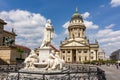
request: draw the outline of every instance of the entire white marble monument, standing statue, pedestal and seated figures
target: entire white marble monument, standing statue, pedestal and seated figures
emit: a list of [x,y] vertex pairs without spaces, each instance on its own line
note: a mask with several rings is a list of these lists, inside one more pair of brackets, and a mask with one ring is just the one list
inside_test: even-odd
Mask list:
[[54,28],[51,25],[51,21],[48,19],[45,24],[44,37],[41,46],[39,47],[39,55],[31,50],[30,55],[25,59],[25,68],[39,69],[44,68],[44,70],[60,70],[62,69],[62,64],[64,60],[60,59],[58,52],[55,52],[51,47],[51,42],[53,39]]

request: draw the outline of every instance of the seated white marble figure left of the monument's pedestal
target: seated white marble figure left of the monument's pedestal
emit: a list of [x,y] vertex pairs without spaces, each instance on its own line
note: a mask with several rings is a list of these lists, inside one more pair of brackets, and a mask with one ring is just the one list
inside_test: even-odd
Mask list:
[[35,68],[34,63],[37,63],[38,60],[39,59],[38,59],[37,54],[34,52],[34,50],[31,50],[30,55],[24,61],[24,63],[25,63],[25,69]]

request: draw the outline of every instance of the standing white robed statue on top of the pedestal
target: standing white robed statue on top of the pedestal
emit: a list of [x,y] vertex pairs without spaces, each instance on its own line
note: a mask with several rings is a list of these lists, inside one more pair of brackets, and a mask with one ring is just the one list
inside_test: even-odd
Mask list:
[[44,37],[41,44],[41,48],[49,46],[53,38],[53,34],[54,34],[54,28],[51,25],[51,20],[48,19],[47,23],[45,24]]

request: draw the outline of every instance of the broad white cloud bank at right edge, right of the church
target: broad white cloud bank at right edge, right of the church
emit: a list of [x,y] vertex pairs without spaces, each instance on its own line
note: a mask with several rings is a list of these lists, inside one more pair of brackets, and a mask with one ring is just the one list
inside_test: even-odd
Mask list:
[[120,30],[103,29],[99,30],[95,36],[108,54],[120,48]]

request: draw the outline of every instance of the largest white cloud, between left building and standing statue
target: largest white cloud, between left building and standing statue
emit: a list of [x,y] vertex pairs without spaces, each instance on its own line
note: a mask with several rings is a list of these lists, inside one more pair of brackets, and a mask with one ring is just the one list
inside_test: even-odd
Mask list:
[[41,14],[31,13],[25,10],[11,10],[0,12],[0,18],[8,24],[6,30],[15,29],[17,33],[16,43],[30,48],[40,46],[46,18]]

